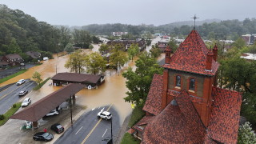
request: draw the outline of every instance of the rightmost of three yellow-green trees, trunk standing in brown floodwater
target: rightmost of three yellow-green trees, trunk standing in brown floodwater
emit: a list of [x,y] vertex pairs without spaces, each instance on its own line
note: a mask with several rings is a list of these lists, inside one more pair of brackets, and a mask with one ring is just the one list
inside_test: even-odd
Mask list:
[[128,62],[128,58],[124,51],[112,50],[111,55],[110,55],[110,65],[117,67],[118,75],[119,75],[120,66],[124,66],[126,62]]

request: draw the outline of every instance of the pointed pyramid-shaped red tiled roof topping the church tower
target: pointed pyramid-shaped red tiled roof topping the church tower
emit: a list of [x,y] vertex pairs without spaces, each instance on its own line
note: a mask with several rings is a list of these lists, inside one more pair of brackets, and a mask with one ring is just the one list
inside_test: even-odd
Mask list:
[[214,75],[219,64],[213,60],[212,71],[206,70],[207,51],[208,49],[198,32],[192,30],[171,57],[170,64],[165,64],[163,67],[195,74]]

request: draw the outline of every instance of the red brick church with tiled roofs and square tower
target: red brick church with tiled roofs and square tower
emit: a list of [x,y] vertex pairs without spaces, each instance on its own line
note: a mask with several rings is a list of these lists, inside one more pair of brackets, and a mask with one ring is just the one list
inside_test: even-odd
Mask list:
[[242,94],[217,87],[218,47],[208,50],[192,30],[154,74],[143,110],[132,127],[143,144],[236,143]]

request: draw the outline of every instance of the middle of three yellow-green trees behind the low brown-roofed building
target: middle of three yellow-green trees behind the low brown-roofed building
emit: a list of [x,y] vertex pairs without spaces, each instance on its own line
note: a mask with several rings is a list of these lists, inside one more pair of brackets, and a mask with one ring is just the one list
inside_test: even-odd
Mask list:
[[98,52],[86,55],[86,72],[90,74],[103,74],[106,71],[106,61]]

